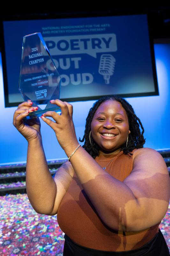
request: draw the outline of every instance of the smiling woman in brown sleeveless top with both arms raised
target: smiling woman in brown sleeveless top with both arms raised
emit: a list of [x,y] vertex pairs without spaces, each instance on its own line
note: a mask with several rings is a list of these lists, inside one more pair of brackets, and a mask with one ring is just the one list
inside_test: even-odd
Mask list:
[[30,102],[18,106],[13,124],[28,141],[28,198],[36,212],[57,213],[65,233],[63,255],[169,255],[159,229],[169,204],[169,174],[162,156],[143,148],[144,129],[132,106],[115,95],[95,102],[81,147],[72,105],[52,103],[62,114],[48,111],[41,118],[54,130],[69,159],[54,179],[39,119],[23,122],[28,109],[36,111]]

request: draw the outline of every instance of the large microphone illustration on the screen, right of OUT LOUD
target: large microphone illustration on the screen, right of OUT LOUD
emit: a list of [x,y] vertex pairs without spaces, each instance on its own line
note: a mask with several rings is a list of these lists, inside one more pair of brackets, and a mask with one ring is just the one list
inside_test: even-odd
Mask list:
[[110,76],[114,73],[116,59],[111,54],[100,56],[99,74],[103,76],[105,84],[110,83]]

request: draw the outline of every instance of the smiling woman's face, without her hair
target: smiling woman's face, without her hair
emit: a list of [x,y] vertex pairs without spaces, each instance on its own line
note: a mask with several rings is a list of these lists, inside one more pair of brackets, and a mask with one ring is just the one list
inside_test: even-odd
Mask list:
[[130,133],[128,116],[122,104],[115,100],[103,102],[93,116],[91,131],[101,154],[121,148]]

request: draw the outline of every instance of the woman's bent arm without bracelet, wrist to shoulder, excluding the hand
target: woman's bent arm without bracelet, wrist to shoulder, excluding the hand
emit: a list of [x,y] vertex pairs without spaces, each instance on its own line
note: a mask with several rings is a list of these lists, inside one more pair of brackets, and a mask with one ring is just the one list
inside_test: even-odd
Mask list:
[[42,140],[33,140],[28,143],[26,192],[37,213],[57,214],[73,175],[74,170],[71,163],[67,161],[59,167],[53,179],[49,172]]

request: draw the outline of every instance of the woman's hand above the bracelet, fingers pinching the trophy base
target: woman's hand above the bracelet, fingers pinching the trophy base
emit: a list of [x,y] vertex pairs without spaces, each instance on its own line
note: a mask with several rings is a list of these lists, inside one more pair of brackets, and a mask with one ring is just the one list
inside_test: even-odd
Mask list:
[[[74,148],[79,144],[72,119],[73,106],[66,101],[58,99],[51,101],[51,103],[56,104],[61,108],[61,115],[57,114],[55,111],[47,111],[41,116],[41,118],[54,130],[60,146],[66,152],[66,148]],[[47,116],[52,117],[55,122],[48,119]]]

